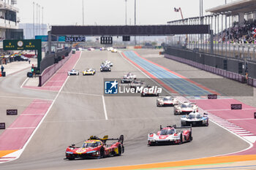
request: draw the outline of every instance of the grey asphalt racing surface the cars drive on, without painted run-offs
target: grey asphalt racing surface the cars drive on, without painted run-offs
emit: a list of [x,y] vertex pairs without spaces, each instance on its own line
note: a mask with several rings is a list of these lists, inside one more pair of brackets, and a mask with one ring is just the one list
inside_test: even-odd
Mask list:
[[[113,62],[112,72],[99,72],[100,63],[106,59]],[[82,76],[83,69],[89,67],[96,69],[97,73],[94,76]],[[159,131],[159,125],[180,125],[180,116],[173,115],[173,108],[156,107],[155,97],[102,97],[103,78],[120,78],[127,72],[137,74],[138,78],[146,76],[118,53],[97,50],[83,52],[75,69],[80,71],[80,75],[68,78],[26,150],[18,160],[0,164],[0,169],[62,170],[125,166],[203,158],[249,147],[249,144],[214,123],[208,127],[192,128],[193,141],[190,143],[148,147],[147,135]],[[172,69],[182,68],[173,65]],[[44,99],[56,96],[54,92],[20,89],[20,84],[25,80],[22,75],[25,72],[0,82],[1,96]],[[12,87],[8,86],[10,82]],[[11,98],[5,98],[6,102],[9,100],[12,101]],[[17,98],[15,100],[18,102]],[[64,160],[64,152],[69,144],[80,146],[91,135],[102,137],[106,134],[115,138],[124,134],[124,155],[104,159]]]

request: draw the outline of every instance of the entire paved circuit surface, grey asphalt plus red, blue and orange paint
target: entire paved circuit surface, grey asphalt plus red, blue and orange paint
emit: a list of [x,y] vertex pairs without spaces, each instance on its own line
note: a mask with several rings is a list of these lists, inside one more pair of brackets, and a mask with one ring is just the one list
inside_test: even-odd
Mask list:
[[[159,131],[159,125],[180,125],[181,116],[173,115],[173,107],[156,107],[155,97],[103,96],[104,78],[117,79],[132,72],[138,79],[153,78],[176,96],[218,93],[187,79],[191,72],[200,77],[215,75],[160,57],[157,53],[154,50],[121,53],[84,51],[72,55],[42,88],[20,88],[26,80],[25,71],[1,81],[4,92],[0,93],[0,97],[12,96],[16,103],[22,100],[19,98],[29,99],[22,101],[20,108],[23,112],[0,135],[0,144],[2,139],[7,140],[0,145],[0,161],[5,161],[0,164],[0,169],[151,169],[255,160],[253,144],[256,122],[253,112],[256,109],[243,101],[240,112],[231,111],[230,103],[241,103],[234,98],[190,98],[200,109],[208,112],[212,120],[210,125],[193,127],[192,142],[147,146],[148,133]],[[112,72],[99,72],[100,63],[105,60],[113,62]],[[83,76],[81,72],[90,67],[96,69],[96,74]],[[73,68],[79,70],[80,75],[67,77],[67,72]],[[15,83],[7,86],[10,82]],[[230,80],[230,83],[233,81]],[[12,98],[5,100],[10,100],[9,103],[13,102],[15,106]],[[42,105],[37,106],[39,103]],[[33,118],[23,120],[23,117]],[[20,140],[17,138],[20,135],[11,135],[8,131],[26,135],[22,135],[23,140]],[[65,149],[70,144],[80,146],[91,135],[102,137],[107,134],[110,138],[124,134],[124,155],[104,159],[64,160]],[[8,141],[13,142],[6,144]],[[17,155],[17,150],[22,152]],[[222,157],[216,157],[218,155]],[[191,161],[173,162],[184,160]],[[147,165],[133,166],[141,164]]]

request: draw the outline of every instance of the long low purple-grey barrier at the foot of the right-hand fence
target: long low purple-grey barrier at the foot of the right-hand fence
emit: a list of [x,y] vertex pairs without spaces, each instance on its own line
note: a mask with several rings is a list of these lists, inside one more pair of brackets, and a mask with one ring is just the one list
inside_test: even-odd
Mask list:
[[226,77],[230,80],[236,80],[238,82],[247,83],[248,85],[252,85],[253,87],[256,87],[256,79],[252,79],[252,78],[249,77],[248,80],[246,80],[246,77],[244,75],[241,75],[241,74],[237,74],[237,73],[234,73],[234,72],[228,72],[224,69],[218,69],[218,68],[215,68],[213,66],[207,66],[207,65],[202,64],[202,63],[197,63],[195,61],[190,61],[190,60],[187,60],[185,58],[179,58],[179,57],[176,57],[176,56],[173,56],[173,55],[165,54],[165,58],[170,58],[174,61],[178,61],[178,62],[181,62],[181,63],[186,63],[189,66],[196,67],[197,69],[202,69],[206,72],[211,72],[211,73],[214,73],[214,74],[218,74],[219,76]]

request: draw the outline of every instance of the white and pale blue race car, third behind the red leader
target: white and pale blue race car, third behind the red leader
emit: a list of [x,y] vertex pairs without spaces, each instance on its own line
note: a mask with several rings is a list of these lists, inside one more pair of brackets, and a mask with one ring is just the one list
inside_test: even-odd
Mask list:
[[181,126],[182,125],[206,125],[208,126],[208,115],[204,113],[203,115],[199,112],[191,112],[189,115],[183,115],[181,117]]

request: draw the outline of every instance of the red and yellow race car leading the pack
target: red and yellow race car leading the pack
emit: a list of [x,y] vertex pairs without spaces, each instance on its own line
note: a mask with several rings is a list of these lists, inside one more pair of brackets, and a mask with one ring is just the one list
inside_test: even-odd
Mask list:
[[[116,140],[113,144],[106,144],[108,141]],[[99,139],[97,136],[91,136],[83,143],[82,147],[75,147],[75,144],[67,147],[66,158],[74,160],[75,158],[105,158],[108,156],[121,156],[124,153],[124,135],[118,139],[108,139],[108,135]]]

